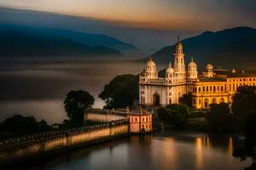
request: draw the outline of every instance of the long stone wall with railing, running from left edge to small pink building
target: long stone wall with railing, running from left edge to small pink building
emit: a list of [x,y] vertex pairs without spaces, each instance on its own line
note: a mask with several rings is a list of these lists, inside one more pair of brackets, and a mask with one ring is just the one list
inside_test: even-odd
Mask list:
[[113,139],[120,135],[128,135],[128,133],[128,122],[123,119],[100,125],[8,139],[0,142],[0,164],[29,156],[45,154],[48,151],[67,149],[78,144]]

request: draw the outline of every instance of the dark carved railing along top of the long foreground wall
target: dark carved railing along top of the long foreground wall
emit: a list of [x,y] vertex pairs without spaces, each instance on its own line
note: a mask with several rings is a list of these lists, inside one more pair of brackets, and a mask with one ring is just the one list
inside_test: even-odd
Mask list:
[[112,122],[103,122],[101,124],[90,125],[85,127],[75,127],[64,130],[49,131],[45,133],[35,133],[32,135],[17,137],[13,139],[6,139],[0,141],[0,151],[13,150],[16,148],[26,148],[31,144],[38,144],[46,141],[65,138],[79,133],[86,133],[90,131],[96,131],[102,128],[115,127],[124,124],[128,124],[127,119],[120,119]]

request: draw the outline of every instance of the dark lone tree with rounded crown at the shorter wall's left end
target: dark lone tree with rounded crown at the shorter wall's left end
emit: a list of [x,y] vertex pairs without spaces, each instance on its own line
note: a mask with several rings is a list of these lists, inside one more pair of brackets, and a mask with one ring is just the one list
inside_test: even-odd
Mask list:
[[65,120],[64,123],[74,127],[83,126],[84,111],[90,108],[94,101],[94,97],[86,91],[70,91],[64,100],[65,111],[69,120]]

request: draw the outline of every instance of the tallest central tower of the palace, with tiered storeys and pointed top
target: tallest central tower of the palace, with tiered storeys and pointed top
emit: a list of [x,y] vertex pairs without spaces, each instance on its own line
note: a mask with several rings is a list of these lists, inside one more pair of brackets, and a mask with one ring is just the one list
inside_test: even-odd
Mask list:
[[186,80],[186,67],[184,61],[184,54],[183,54],[183,45],[179,41],[179,37],[177,38],[177,45],[174,55],[174,72],[175,77],[177,77],[177,83],[184,83]]

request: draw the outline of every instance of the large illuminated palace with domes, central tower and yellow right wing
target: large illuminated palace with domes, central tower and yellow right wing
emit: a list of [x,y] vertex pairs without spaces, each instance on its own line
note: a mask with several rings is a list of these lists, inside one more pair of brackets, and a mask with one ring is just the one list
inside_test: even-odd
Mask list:
[[[187,68],[187,70],[186,70]],[[213,70],[208,64],[201,74],[193,58],[186,67],[183,45],[177,42],[174,65],[166,68],[166,76],[159,77],[156,64],[150,57],[139,77],[139,103],[141,105],[178,104],[183,94],[192,94],[193,106],[207,109],[210,104],[232,103],[232,96],[239,86],[254,86],[256,75],[244,71]]]

